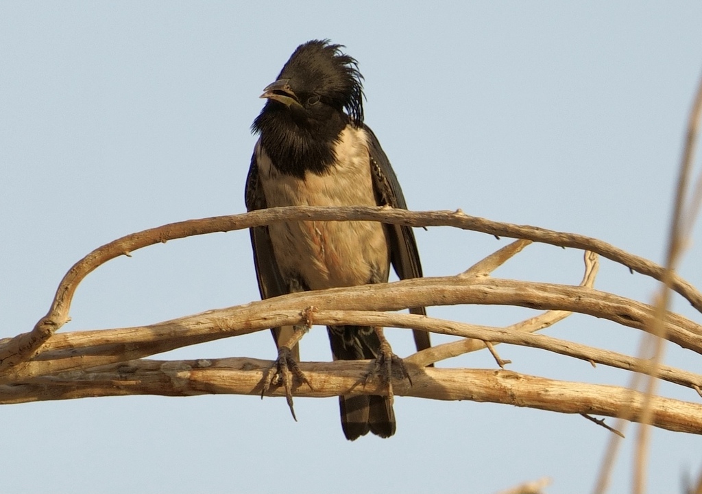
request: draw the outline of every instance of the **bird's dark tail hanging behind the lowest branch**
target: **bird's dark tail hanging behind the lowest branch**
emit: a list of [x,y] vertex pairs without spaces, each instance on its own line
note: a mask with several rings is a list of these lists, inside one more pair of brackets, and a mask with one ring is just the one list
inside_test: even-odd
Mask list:
[[[378,356],[380,340],[370,326],[327,326],[335,360],[366,360]],[[369,432],[380,437],[395,434],[395,412],[388,396],[340,396],[341,427],[354,441]]]

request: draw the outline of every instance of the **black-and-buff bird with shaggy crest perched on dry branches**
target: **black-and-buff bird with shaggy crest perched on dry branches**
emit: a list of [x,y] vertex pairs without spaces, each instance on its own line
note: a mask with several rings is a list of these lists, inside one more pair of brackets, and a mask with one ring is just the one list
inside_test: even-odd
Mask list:
[[[246,177],[246,209],[284,206],[386,206],[407,209],[402,189],[378,138],[364,123],[364,89],[355,58],[345,46],[313,39],[293,52],[251,131],[258,141]],[[400,279],[420,278],[422,267],[413,231],[375,221],[287,221],[250,229],[258,287],[263,299],[293,292],[387,282],[390,265]],[[423,307],[411,313],[425,314]],[[281,374],[307,382],[300,372],[304,327],[272,328]],[[328,326],[334,360],[376,360],[388,396],[340,396],[347,439],[371,432],[395,434],[390,386],[395,356],[380,327]],[[418,350],[430,346],[427,332],[413,332]],[[292,343],[291,343],[292,342]],[[395,372],[397,374],[397,372]],[[309,382],[307,382],[309,384]],[[266,384],[267,386],[267,384]],[[310,386],[311,387],[311,386]],[[292,398],[286,387],[293,418]]]

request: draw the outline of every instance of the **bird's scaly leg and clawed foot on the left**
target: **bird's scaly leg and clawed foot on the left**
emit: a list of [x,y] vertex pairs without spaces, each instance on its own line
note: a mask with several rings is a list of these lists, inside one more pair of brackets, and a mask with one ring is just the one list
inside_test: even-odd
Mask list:
[[271,385],[284,386],[285,398],[290,412],[293,415],[293,419],[296,422],[298,418],[295,416],[295,408],[293,408],[293,378],[296,379],[299,384],[307,384],[307,386],[310,386],[310,389],[312,389],[312,384],[307,380],[303,371],[300,370],[297,360],[293,357],[292,349],[298,344],[305,333],[310,330],[310,326],[312,326],[311,313],[313,310],[313,307],[308,307],[303,311],[302,316],[305,320],[305,325],[294,325],[291,337],[278,347],[278,358],[275,360],[274,365],[272,365],[263,376],[263,388],[261,389],[261,398],[263,398],[263,395],[270,389]]

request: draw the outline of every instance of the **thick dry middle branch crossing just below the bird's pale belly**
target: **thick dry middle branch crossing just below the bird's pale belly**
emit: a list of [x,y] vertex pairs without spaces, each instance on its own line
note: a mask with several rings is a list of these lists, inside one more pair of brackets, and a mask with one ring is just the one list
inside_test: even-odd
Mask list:
[[[310,306],[314,306],[320,313],[320,316],[317,316],[315,311],[310,313],[312,323],[328,324],[330,323],[328,320],[321,318],[323,311],[396,311],[420,305],[452,304],[516,305],[580,312],[614,320],[640,330],[647,330],[647,323],[653,311],[646,304],[588,287],[482,277],[418,278],[345,289],[289,294],[150,326],[56,334],[44,344],[41,353],[36,357],[0,376],[0,383],[123,362],[182,346],[247,334],[270,327],[304,324],[306,321],[302,314]],[[402,326],[401,316],[407,315],[376,313],[371,316],[376,317],[376,323],[369,325]],[[430,320],[430,318],[416,316],[406,325],[409,327],[414,325],[417,329],[421,329],[420,322],[425,319]],[[352,321],[335,320],[331,323],[352,323]],[[432,330],[439,331],[439,328]],[[670,314],[666,322],[666,331],[671,342],[702,353],[700,325],[682,316]],[[472,334],[453,334],[475,337]],[[523,332],[512,336],[526,337]],[[503,341],[499,334],[483,336],[481,339],[491,342]]]

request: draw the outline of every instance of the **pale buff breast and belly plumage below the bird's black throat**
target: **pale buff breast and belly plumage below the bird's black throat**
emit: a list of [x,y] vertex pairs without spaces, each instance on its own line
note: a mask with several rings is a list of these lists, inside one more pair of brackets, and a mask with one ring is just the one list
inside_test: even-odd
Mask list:
[[[256,160],[267,207],[376,206],[366,134],[347,127],[337,160],[324,174],[280,174],[259,143]],[[364,285],[388,279],[385,230],[373,221],[299,221],[269,226],[275,257],[285,278],[301,278],[310,290]]]

